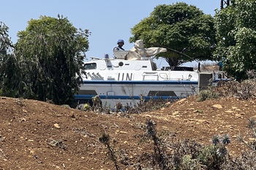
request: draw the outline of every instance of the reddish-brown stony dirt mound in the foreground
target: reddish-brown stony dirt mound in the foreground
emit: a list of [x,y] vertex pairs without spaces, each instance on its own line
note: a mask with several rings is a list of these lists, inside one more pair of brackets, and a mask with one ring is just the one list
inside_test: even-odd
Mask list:
[[148,119],[157,123],[157,131],[173,131],[178,139],[201,144],[211,144],[214,135],[229,134],[228,150],[235,156],[244,150],[236,136],[248,133],[246,125],[255,117],[256,104],[236,98],[196,102],[189,97],[140,115],[102,115],[1,97],[0,107],[0,169],[115,169],[108,150],[99,142],[103,132],[110,136],[113,148],[119,149],[120,169],[136,169],[139,155],[152,145],[140,138]]

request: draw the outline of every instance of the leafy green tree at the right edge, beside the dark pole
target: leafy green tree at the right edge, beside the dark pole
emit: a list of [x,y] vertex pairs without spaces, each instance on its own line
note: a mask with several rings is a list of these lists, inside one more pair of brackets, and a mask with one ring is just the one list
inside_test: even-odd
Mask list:
[[223,69],[237,80],[247,78],[246,72],[256,69],[256,1],[231,1],[217,11],[217,49],[215,58]]

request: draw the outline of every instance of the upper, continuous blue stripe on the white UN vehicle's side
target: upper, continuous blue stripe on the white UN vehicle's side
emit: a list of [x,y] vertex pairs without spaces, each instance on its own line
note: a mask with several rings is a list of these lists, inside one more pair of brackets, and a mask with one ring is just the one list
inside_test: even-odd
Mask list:
[[127,84],[127,85],[197,85],[198,81],[173,81],[173,80],[164,80],[164,81],[115,81],[115,80],[89,80],[83,81],[83,84]]

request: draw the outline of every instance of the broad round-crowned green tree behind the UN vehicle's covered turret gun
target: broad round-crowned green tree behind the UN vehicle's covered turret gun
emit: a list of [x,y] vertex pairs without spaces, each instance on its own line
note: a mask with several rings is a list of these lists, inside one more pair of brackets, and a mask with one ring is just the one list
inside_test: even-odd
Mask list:
[[130,42],[143,39],[145,47],[166,47],[160,55],[170,66],[211,60],[216,44],[214,18],[184,2],[158,5],[132,28],[132,35]]

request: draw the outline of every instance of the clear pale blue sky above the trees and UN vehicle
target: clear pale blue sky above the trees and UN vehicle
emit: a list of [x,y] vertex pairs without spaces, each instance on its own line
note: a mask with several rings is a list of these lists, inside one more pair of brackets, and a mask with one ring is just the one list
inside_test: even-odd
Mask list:
[[[31,19],[41,15],[57,18],[63,15],[75,28],[89,29],[89,51],[91,56],[104,58],[105,54],[113,56],[113,47],[118,39],[124,39],[124,49],[129,50],[134,43],[129,43],[131,28],[150,16],[159,4],[176,4],[173,0],[9,0],[1,1],[0,21],[9,27],[9,36],[17,42],[18,31],[23,31]],[[220,8],[220,0],[183,0],[195,5],[205,14],[214,16],[215,9]],[[165,64],[157,61],[158,66]],[[167,66],[165,64],[165,66]]]

